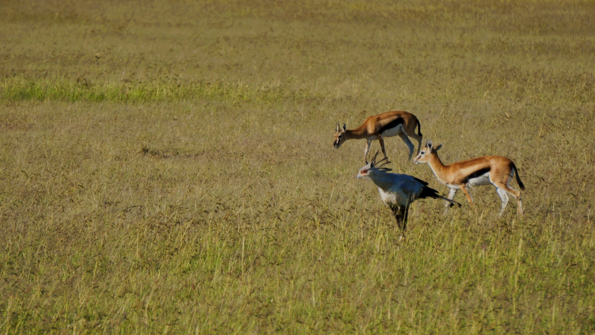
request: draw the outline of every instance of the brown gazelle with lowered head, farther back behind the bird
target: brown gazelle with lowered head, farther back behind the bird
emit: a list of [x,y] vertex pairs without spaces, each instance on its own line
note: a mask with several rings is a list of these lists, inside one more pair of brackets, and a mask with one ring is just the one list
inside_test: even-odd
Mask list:
[[[415,126],[417,126],[417,134],[415,134]],[[383,138],[396,135],[399,135],[409,147],[409,159],[411,159],[415,149],[413,143],[409,141],[409,137],[417,139],[417,152],[419,153],[423,136],[419,127],[419,120],[414,114],[407,111],[387,111],[386,113],[369,116],[361,126],[355,129],[347,130],[345,123],[343,123],[343,128],[340,128],[339,123],[336,123],[333,146],[338,149],[348,139],[365,138],[366,150],[364,160],[366,160],[371,142],[377,139],[380,142],[380,148],[382,149],[384,158],[387,158]]]

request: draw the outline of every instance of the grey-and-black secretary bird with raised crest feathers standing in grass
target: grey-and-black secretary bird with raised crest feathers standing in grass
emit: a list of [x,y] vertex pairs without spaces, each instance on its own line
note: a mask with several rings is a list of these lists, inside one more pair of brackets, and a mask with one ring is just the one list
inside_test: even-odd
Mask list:
[[378,151],[376,151],[370,163],[366,162],[366,165],[359,169],[358,179],[362,177],[372,179],[372,182],[378,187],[382,201],[393,211],[397,225],[402,231],[405,231],[407,227],[409,206],[414,200],[420,198],[443,199],[448,201],[451,206],[458,204],[461,207],[460,203],[440,196],[438,191],[428,187],[428,183],[421,179],[417,179],[414,176],[387,172],[392,169],[383,168],[383,166],[390,162],[386,157],[376,162],[377,156]]

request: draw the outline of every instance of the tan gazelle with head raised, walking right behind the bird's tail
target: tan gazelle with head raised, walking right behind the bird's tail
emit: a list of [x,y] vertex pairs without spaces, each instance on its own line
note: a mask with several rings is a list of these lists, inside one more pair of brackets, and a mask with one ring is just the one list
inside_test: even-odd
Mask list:
[[[496,187],[496,192],[500,196],[500,200],[502,200],[502,208],[499,215],[502,215],[508,204],[507,192],[516,198],[516,204],[518,205],[516,211],[519,216],[522,215],[521,193],[511,188],[508,183],[512,176],[515,175],[516,182],[519,184],[521,190],[525,190],[525,185],[522,184],[515,163],[511,159],[504,156],[484,156],[452,163],[451,165],[444,165],[437,153],[441,147],[441,144],[433,147],[432,141],[428,139],[425,147],[421,149],[413,162],[415,164],[428,163],[430,165],[436,178],[450,188],[448,194],[450,200],[455,197],[456,191],[460,188],[465,193],[469,203],[473,204],[473,198],[471,198],[467,187],[491,184]],[[447,209],[444,209],[445,214],[446,211]]]

